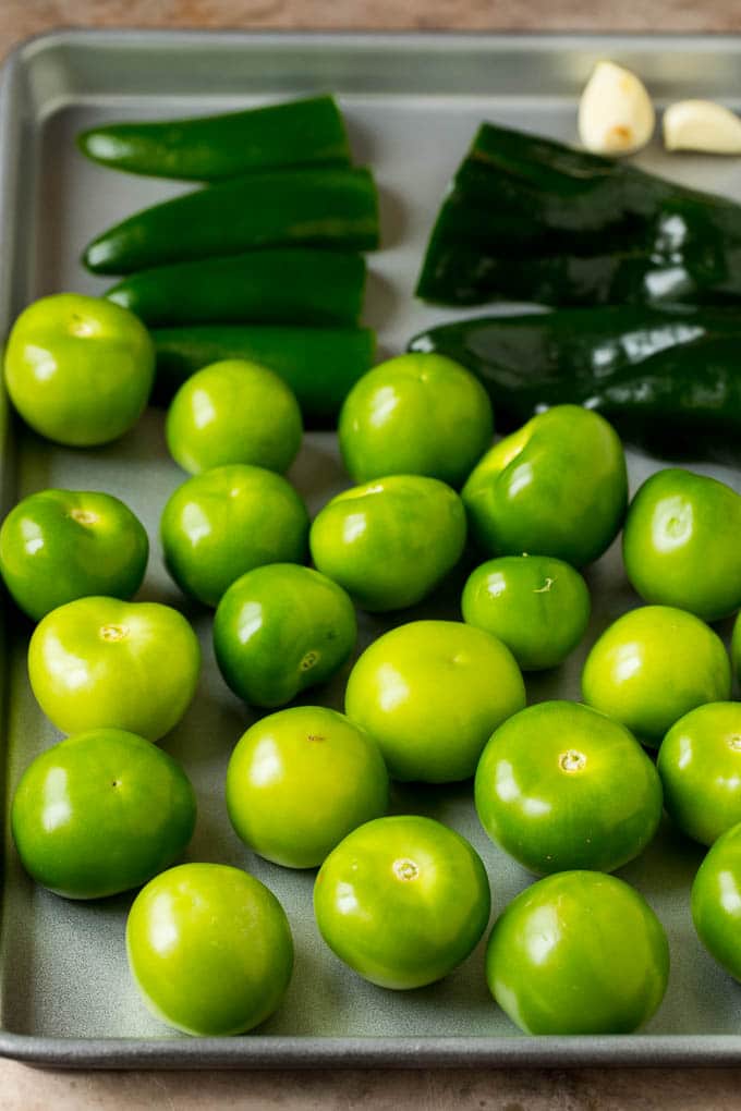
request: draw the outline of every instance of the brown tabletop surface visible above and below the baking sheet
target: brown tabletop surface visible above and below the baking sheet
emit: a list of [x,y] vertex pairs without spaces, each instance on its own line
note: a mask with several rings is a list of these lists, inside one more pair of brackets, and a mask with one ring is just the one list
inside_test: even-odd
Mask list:
[[[741,0],[0,0],[0,57],[60,27],[739,31]],[[0,1108],[725,1111],[741,1070],[64,1073],[0,1061]]]

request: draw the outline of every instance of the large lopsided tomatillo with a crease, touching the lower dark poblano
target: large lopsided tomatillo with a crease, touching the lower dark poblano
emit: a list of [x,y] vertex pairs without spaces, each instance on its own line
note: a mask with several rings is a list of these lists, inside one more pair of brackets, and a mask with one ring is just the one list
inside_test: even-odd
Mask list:
[[607,551],[622,524],[622,444],[599,413],[554,406],[500,440],[461,497],[487,554],[553,556],[583,567]]

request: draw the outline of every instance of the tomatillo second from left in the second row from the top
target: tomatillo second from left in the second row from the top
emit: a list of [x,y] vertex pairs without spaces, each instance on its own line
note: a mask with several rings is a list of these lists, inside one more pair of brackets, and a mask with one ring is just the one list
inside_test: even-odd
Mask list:
[[302,563],[309,513],[293,487],[234,463],[188,479],[160,522],[164,562],[186,594],[218,605],[232,582],[266,563]]

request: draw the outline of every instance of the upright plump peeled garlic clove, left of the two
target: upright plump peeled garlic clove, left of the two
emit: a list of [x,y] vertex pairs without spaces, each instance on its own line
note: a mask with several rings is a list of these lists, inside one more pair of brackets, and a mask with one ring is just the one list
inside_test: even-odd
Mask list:
[[614,62],[598,62],[579,101],[579,137],[595,154],[632,154],[653,134],[645,86]]

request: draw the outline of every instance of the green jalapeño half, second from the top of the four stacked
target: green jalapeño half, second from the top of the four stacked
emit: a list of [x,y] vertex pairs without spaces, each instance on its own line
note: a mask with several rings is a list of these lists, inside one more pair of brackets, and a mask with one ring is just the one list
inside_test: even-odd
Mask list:
[[142,209],[86,248],[93,273],[127,274],[266,247],[378,247],[375,183],[362,167],[277,170]]

